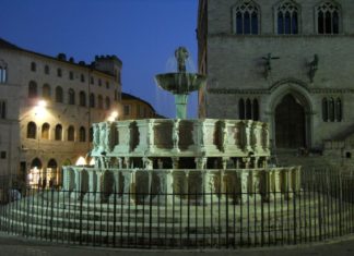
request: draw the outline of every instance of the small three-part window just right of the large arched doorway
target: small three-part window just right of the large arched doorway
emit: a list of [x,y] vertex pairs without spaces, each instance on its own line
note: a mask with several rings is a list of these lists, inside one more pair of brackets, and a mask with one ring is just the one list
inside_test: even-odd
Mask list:
[[342,100],[337,98],[322,99],[322,120],[323,122],[342,122],[343,106]]

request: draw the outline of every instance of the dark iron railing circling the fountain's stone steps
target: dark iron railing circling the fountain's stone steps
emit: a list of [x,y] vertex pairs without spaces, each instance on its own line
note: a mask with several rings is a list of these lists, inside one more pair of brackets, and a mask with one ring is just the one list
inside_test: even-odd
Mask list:
[[253,247],[300,244],[354,231],[354,179],[303,174],[302,190],[247,193],[81,193],[1,186],[0,229],[93,246]]

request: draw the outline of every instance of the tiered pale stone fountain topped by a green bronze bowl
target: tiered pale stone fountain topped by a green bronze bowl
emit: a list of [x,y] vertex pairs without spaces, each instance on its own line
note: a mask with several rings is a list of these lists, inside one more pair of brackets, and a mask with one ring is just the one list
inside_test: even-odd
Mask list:
[[[80,198],[114,192],[141,204],[146,196],[184,193],[253,193],[299,190],[299,168],[268,168],[269,126],[251,120],[186,119],[188,95],[206,83],[201,74],[186,72],[189,56],[175,51],[176,73],[156,75],[160,87],[175,95],[176,119],[145,119],[93,124],[95,166],[63,167],[63,190]],[[78,193],[72,193],[78,195]],[[246,194],[245,194],[246,195]],[[93,196],[91,196],[93,198]],[[243,203],[244,198],[234,198]],[[267,198],[269,199],[269,198]]]

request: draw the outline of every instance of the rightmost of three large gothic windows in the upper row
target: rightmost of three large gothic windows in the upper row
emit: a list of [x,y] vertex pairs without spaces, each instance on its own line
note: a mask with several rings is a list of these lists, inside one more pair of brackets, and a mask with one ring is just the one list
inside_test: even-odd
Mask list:
[[316,8],[318,34],[339,34],[340,7],[332,1],[326,1]]

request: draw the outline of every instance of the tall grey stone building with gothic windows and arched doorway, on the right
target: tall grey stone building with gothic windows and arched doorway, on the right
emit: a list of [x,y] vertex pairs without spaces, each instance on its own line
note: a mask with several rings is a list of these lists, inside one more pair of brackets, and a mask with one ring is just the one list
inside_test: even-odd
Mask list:
[[198,12],[200,117],[269,122],[278,149],[352,150],[354,1],[200,0]]

